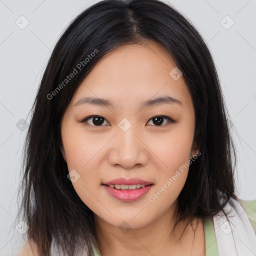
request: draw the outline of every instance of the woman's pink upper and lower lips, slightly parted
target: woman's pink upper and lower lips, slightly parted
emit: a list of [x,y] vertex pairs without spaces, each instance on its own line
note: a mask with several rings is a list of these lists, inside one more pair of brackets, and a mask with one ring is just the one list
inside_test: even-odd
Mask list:
[[[112,188],[109,185],[111,184],[123,184],[123,185],[135,185],[135,184],[141,184],[145,185],[144,187],[137,188],[137,189],[116,189]],[[126,202],[131,202],[134,200],[137,200],[140,198],[142,195],[147,193],[149,189],[152,187],[153,183],[148,182],[139,178],[116,178],[112,179],[106,183],[101,184],[106,191],[114,198],[121,200],[121,201],[126,201]]]

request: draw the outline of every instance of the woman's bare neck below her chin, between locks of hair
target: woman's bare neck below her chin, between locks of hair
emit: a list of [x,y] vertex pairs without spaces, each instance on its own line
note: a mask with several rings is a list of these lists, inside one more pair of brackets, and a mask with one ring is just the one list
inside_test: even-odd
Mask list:
[[111,225],[94,214],[97,242],[101,255],[130,256],[137,255],[138,252],[144,253],[144,255],[157,255],[159,251],[163,253],[165,250],[165,255],[167,255],[173,246],[180,245],[178,240],[184,230],[184,228],[180,228],[182,224],[177,225],[175,232],[173,230],[177,220],[176,208],[177,200],[163,215],[148,225],[126,230],[121,230],[118,226]]

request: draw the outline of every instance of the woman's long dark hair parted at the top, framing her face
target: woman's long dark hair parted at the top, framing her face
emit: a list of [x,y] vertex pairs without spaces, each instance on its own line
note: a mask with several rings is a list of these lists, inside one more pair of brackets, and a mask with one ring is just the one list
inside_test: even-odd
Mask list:
[[[67,178],[60,152],[63,113],[79,84],[106,53],[149,40],[164,46],[182,71],[195,109],[194,140],[201,155],[189,166],[178,196],[178,221],[213,216],[230,197],[236,199],[228,114],[202,36],[174,7],[159,0],[103,0],[82,11],[61,34],[31,108],[19,214],[29,226],[27,240],[36,244],[40,256],[49,255],[53,240],[70,256],[79,246],[90,252],[96,241],[93,212]],[[70,73],[75,75],[68,79]]]

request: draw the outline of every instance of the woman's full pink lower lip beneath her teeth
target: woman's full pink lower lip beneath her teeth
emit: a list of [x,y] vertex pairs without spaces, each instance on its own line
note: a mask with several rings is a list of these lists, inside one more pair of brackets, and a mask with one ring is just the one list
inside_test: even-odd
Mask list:
[[103,186],[106,189],[106,191],[114,198],[121,200],[121,201],[131,202],[131,201],[138,199],[139,197],[144,195],[146,192],[148,192],[148,190],[151,188],[152,185],[146,185],[141,188],[130,189],[130,190],[129,189],[126,189],[126,190],[116,189],[116,188],[112,188],[107,185],[103,185]]

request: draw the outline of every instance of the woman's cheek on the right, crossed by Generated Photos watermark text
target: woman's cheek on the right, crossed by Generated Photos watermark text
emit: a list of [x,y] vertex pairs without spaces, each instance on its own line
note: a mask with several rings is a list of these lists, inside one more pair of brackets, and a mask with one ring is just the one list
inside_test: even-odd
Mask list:
[[[157,186],[153,193],[158,202],[176,199],[187,178],[193,140],[193,120],[173,125],[171,132],[155,143],[155,155],[161,160],[157,168]],[[153,195],[151,193],[151,195]],[[154,197],[154,196],[153,196]],[[154,198],[153,198],[154,199]]]

